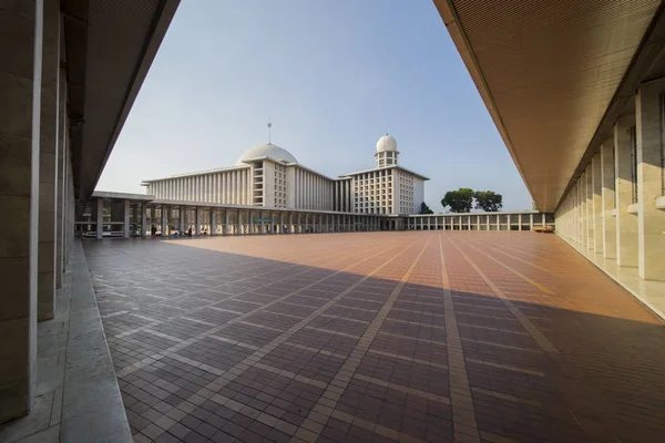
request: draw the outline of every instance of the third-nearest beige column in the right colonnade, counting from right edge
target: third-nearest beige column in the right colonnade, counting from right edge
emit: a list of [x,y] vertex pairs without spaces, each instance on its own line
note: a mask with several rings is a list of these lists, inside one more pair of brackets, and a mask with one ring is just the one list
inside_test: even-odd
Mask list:
[[603,255],[605,258],[616,258],[616,219],[612,215],[615,202],[613,140],[604,142],[601,146],[601,183]]

